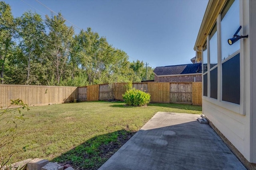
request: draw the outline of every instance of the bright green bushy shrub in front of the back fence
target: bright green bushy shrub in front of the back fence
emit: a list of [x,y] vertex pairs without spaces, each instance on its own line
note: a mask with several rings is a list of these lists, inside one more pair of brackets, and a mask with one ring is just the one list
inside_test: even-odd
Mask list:
[[150,94],[131,88],[123,95],[123,99],[128,106],[144,106],[150,102]]

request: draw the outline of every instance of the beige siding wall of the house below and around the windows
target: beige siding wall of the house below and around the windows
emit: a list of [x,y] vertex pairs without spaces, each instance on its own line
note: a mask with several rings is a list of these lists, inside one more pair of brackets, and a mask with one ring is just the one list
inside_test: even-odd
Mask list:
[[[210,85],[208,83],[208,97],[202,97],[202,111],[214,128],[216,127],[218,129],[217,131],[221,133],[219,135],[224,135],[226,138],[224,140],[227,140],[226,143],[232,143],[234,148],[229,146],[230,149],[233,152],[237,150],[242,154],[239,156],[239,153],[237,156],[244,165],[246,165],[246,168],[254,169],[256,168],[256,107],[255,102],[251,99],[253,99],[256,94],[251,91],[254,91],[256,83],[251,84],[251,81],[252,77],[256,75],[252,74],[256,72],[256,62],[252,63],[252,59],[255,58],[255,56],[252,56],[252,51],[255,52],[255,49],[253,49],[255,47],[250,44],[252,41],[250,40],[250,29],[255,30],[255,25],[253,25],[253,27],[251,23],[249,24],[249,18],[251,17],[250,19],[254,20],[254,24],[256,23],[255,12],[253,12],[253,9],[256,8],[256,3],[253,0],[241,0],[239,3],[240,24],[242,25],[240,33],[249,35],[247,39],[240,40],[240,105],[224,102],[220,99],[222,94],[221,77],[219,76],[221,75],[221,63],[218,63],[218,99],[216,100],[209,97]],[[249,15],[251,16],[249,17]],[[253,41],[255,43],[255,40]],[[256,78],[254,79],[256,80]],[[249,162],[252,164],[249,165]]]

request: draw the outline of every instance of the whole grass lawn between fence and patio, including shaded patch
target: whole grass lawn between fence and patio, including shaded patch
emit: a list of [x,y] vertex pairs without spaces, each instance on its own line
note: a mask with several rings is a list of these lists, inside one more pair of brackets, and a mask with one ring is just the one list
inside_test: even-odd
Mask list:
[[[81,102],[30,107],[16,149],[26,147],[12,162],[44,158],[76,169],[97,169],[156,112],[202,113],[202,107],[149,104],[128,107],[123,102]],[[2,123],[1,123],[2,124]],[[0,125],[1,127],[1,125]]]

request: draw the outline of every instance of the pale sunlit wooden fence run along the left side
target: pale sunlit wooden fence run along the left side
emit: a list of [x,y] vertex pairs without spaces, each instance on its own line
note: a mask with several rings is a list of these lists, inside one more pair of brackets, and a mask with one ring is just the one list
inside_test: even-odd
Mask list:
[[77,96],[77,87],[0,84],[0,107],[3,108],[16,99],[23,100],[28,106],[40,106],[73,102]]

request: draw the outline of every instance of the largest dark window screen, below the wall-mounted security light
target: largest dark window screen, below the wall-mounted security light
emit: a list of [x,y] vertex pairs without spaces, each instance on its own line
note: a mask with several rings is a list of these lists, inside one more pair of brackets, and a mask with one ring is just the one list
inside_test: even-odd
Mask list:
[[222,100],[240,104],[240,53],[222,64]]

